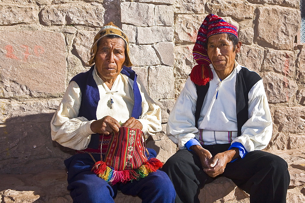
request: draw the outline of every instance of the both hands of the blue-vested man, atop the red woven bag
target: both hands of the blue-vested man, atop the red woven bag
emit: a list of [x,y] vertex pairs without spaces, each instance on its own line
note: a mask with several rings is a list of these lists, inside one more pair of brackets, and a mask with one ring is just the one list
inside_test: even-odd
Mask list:
[[112,118],[109,115],[105,116],[102,119],[93,121],[91,123],[90,128],[94,133],[109,135],[112,132],[119,132],[119,127],[121,126],[137,128],[140,130],[142,130],[143,128],[142,123],[134,117],[130,117],[126,122],[120,125],[120,123],[116,119]]

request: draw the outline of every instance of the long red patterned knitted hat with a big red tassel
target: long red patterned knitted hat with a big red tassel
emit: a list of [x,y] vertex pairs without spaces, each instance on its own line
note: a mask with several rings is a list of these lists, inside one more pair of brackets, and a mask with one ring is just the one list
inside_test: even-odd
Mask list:
[[198,65],[193,67],[190,77],[195,84],[206,85],[213,79],[210,68],[211,61],[207,54],[207,38],[221,33],[233,34],[238,38],[237,28],[234,25],[225,22],[217,15],[207,15],[198,30],[197,40],[193,48],[193,57]]

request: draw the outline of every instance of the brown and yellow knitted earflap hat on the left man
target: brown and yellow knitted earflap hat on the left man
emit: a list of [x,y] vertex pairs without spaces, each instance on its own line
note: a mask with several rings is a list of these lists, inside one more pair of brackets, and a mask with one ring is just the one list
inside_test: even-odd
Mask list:
[[127,61],[127,64],[125,66],[130,67],[132,66],[132,63],[129,58],[129,41],[126,36],[126,34],[121,30],[119,27],[115,26],[113,22],[109,22],[102,29],[95,35],[93,45],[91,47],[91,59],[88,61],[89,65],[93,64],[93,59],[95,57],[96,51],[97,51],[97,43],[102,37],[107,35],[117,35],[120,36],[125,42],[126,42],[126,56],[125,61]]

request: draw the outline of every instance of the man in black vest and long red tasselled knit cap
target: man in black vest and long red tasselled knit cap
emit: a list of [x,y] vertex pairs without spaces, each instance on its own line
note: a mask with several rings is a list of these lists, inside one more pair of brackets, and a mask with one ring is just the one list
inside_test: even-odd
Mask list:
[[176,202],[199,202],[199,189],[230,178],[250,202],[285,202],[287,163],[260,151],[271,139],[272,120],[262,78],[235,61],[241,42],[235,26],[209,14],[193,49],[196,65],[167,123],[180,150],[164,164]]

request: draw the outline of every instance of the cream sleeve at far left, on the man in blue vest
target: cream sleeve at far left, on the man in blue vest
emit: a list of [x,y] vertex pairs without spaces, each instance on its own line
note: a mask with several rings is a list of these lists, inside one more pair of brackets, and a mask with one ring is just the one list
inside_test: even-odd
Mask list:
[[52,140],[74,150],[87,148],[91,134],[90,125],[85,117],[77,117],[81,105],[81,90],[76,82],[71,81],[63,99],[51,120]]

